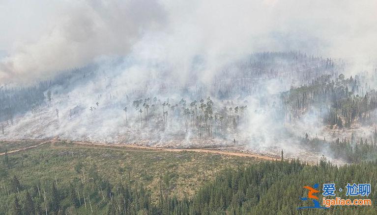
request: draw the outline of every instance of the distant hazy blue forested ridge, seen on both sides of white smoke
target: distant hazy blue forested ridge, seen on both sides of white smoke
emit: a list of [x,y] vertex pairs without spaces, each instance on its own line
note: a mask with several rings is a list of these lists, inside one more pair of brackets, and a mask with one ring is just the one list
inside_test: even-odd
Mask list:
[[[197,66],[197,65],[194,65]],[[85,82],[95,77],[98,65],[61,72],[57,77],[41,81],[28,87],[0,87],[0,121],[11,124],[16,115],[32,110],[40,111],[41,106],[48,105],[54,94],[54,88],[73,89],[78,82]],[[331,59],[307,55],[303,52],[257,52],[219,69],[213,80],[208,83],[198,83],[197,79],[187,80],[185,87],[175,83],[161,83],[159,94],[193,94],[198,97],[206,95],[219,99],[230,99],[235,95],[248,96],[259,93],[260,81],[269,78],[291,80],[293,77],[299,83],[316,78],[324,73],[335,74],[334,62]],[[169,89],[171,86],[172,89]],[[146,88],[155,89],[156,86]],[[190,88],[193,87],[194,91]],[[47,92],[50,90],[50,97]],[[148,94],[148,90],[133,89],[133,92],[123,92],[128,96]],[[51,97],[52,95],[52,97]],[[126,99],[126,98],[125,98]]]

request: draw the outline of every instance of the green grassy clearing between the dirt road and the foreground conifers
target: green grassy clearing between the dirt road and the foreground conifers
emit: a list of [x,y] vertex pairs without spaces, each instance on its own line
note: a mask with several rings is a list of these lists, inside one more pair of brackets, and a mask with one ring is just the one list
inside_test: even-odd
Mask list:
[[[31,143],[24,143],[31,145]],[[7,143],[9,146],[10,143]],[[25,145],[18,145],[25,147]],[[16,149],[16,146],[13,146]],[[72,156],[73,152],[73,156]],[[48,143],[9,154],[10,167],[2,164],[0,181],[5,185],[13,175],[21,184],[35,180],[55,181],[58,186],[72,180],[87,180],[87,171],[95,165],[111,183],[143,184],[152,196],[158,196],[160,184],[171,195],[192,196],[205,182],[226,168],[255,163],[255,158],[232,157],[198,152],[168,152],[116,146]],[[3,160],[4,156],[0,156]]]

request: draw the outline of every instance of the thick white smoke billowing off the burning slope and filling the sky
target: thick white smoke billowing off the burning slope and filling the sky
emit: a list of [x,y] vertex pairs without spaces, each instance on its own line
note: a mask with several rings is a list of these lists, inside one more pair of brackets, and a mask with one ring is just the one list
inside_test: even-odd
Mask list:
[[[89,81],[78,80],[69,88],[52,86],[52,101],[36,113],[16,116],[2,138],[203,146],[196,133],[185,132],[182,121],[167,123],[161,132],[161,106],[159,117],[150,118],[141,130],[133,99],[157,96],[161,103],[169,98],[172,104],[182,97],[205,99],[211,92],[192,97],[178,91],[211,84],[226,65],[258,51],[302,50],[345,58],[353,63],[346,71],[350,73],[375,66],[376,8],[376,2],[367,0],[0,1],[0,85],[34,84],[93,62],[100,65]],[[292,145],[297,137],[306,132],[311,137],[323,135],[318,115],[308,114],[295,124],[274,119],[276,96],[292,84],[284,78],[285,82],[257,80],[258,91],[245,98],[235,96],[232,107],[247,105],[248,123],[225,140],[207,143],[235,138],[255,148],[296,151]],[[167,88],[176,90],[161,91]],[[230,107],[226,101],[215,102],[219,108]]]

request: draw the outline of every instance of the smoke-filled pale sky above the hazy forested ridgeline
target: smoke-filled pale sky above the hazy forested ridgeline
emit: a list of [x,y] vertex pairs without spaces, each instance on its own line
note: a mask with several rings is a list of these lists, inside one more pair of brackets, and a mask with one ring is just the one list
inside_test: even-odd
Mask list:
[[375,65],[376,9],[370,0],[0,0],[0,83],[104,55],[187,70],[198,54],[215,69],[225,55],[303,50]]

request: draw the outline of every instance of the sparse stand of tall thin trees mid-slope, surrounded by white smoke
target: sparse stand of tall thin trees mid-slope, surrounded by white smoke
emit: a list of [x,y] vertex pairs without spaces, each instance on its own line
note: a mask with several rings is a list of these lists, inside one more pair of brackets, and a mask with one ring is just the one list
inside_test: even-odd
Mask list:
[[[162,124],[163,131],[168,130],[170,124],[179,124],[182,127],[184,125],[186,133],[196,133],[198,138],[221,138],[230,131],[237,131],[238,126],[248,126],[246,103],[247,101],[243,101],[236,105],[229,101],[213,101],[211,97],[199,101],[182,98],[177,102],[169,98],[160,100],[148,97],[132,102],[131,120],[136,119],[141,128],[147,127],[151,121],[155,123],[162,120],[159,124]],[[123,111],[127,126],[130,108],[124,107]],[[138,115],[137,118],[135,115]]]

